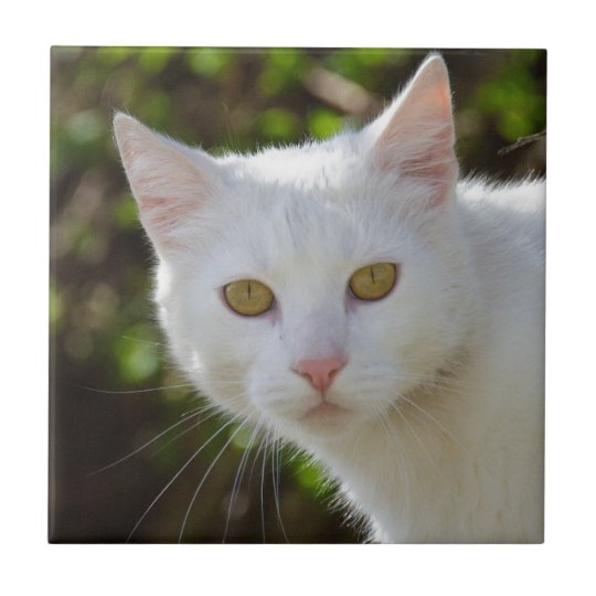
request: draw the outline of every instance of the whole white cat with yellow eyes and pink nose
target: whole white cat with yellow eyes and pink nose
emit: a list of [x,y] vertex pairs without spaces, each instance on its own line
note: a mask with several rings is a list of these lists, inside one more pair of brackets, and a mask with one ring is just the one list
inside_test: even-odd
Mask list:
[[198,387],[313,454],[375,540],[543,540],[544,187],[457,181],[440,56],[323,142],[114,126]]

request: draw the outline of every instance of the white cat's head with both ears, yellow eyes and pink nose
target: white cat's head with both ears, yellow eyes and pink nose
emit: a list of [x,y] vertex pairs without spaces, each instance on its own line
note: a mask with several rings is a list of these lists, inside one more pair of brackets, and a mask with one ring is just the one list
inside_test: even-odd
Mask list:
[[223,408],[299,440],[345,436],[457,353],[467,260],[439,56],[323,142],[213,158],[121,114],[115,131],[171,349]]

